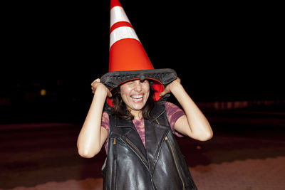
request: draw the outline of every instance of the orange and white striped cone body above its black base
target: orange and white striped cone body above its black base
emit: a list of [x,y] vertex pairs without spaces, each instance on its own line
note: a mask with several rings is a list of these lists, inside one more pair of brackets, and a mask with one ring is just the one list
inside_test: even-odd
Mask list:
[[118,0],[110,6],[109,72],[154,69]]

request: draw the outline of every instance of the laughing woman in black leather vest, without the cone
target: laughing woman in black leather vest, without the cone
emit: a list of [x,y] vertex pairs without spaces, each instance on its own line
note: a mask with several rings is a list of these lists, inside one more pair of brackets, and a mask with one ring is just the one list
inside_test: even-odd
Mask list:
[[[91,158],[105,144],[104,189],[197,189],[172,134],[206,141],[213,132],[180,78],[160,96],[172,93],[185,113],[170,102],[153,101],[152,80],[127,81],[113,95],[100,79],[91,85],[94,97],[78,137],[78,153]],[[103,112],[107,97],[115,106]]]

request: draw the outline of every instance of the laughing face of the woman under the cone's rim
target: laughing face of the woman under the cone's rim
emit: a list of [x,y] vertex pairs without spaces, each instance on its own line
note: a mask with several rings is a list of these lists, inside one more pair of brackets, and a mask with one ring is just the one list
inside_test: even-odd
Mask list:
[[145,106],[150,95],[148,80],[132,80],[120,85],[120,96],[130,111],[139,111]]

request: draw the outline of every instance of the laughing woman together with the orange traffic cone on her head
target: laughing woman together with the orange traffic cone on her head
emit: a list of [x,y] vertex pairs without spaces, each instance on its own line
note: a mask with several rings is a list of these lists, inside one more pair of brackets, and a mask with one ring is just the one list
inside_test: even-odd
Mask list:
[[[126,18],[111,1],[110,38],[120,38],[111,39],[109,73],[91,84],[78,153],[90,158],[105,147],[104,189],[197,189],[174,134],[207,140],[212,129],[175,70],[153,68]],[[184,111],[161,98],[167,93]]]

